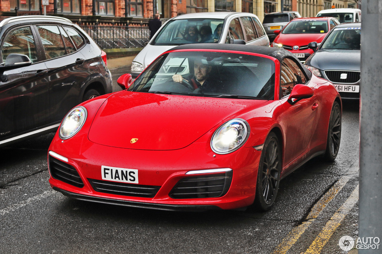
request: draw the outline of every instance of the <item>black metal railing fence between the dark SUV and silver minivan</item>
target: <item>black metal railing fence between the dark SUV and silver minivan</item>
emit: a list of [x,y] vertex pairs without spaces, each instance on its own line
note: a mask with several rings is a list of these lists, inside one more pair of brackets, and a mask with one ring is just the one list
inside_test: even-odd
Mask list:
[[144,47],[144,42],[150,38],[147,26],[99,24],[80,25],[101,48],[135,48]]

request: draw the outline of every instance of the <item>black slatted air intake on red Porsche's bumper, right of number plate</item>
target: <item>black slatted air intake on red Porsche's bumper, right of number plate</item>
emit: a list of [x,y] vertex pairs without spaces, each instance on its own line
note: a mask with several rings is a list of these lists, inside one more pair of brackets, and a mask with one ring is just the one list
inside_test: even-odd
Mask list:
[[218,198],[230,188],[232,170],[224,174],[204,175],[181,179],[171,190],[171,198]]

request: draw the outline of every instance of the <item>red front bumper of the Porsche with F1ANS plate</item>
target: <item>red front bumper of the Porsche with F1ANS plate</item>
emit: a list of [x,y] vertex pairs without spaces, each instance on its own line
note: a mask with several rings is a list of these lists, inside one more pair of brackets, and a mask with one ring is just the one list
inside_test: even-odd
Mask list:
[[[252,147],[241,147],[230,154],[214,154],[212,151],[206,151],[205,142],[193,143],[186,148],[172,151],[122,149],[92,143],[87,139],[86,133],[77,133],[63,143],[56,135],[49,150],[67,158],[67,162],[59,160],[60,163],[78,173],[79,184],[63,181],[63,178],[52,175],[49,161],[50,185],[66,196],[108,204],[187,211],[237,209],[251,205],[254,201],[261,155],[261,151]],[[137,188],[157,186],[159,190],[153,193],[153,196],[130,196],[124,193],[118,195],[115,191],[109,193],[97,191],[94,182],[108,182],[102,179],[102,166],[136,169],[139,185],[130,183],[130,186]],[[205,197],[195,194],[177,198],[174,195],[175,187],[185,179],[191,177],[202,179],[219,175],[221,178],[222,175],[222,172],[186,175],[187,172],[225,168],[232,169],[232,176],[229,183],[225,183],[224,188],[227,190],[222,192],[222,196]],[[203,181],[200,182],[201,186],[197,187],[197,190],[201,192],[207,189],[213,190],[214,186],[206,187]],[[110,183],[116,182],[110,181]]]

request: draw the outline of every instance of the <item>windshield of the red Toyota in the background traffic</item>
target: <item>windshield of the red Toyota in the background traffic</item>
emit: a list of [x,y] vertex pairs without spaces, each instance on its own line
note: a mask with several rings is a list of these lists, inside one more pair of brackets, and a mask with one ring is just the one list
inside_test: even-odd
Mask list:
[[283,34],[324,34],[328,32],[325,20],[291,21],[282,31]]

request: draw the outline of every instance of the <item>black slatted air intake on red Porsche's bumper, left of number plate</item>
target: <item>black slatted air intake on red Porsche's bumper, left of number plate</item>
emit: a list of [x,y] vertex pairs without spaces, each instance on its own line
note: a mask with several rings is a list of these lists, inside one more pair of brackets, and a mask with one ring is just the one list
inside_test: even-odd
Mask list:
[[79,177],[77,170],[63,161],[60,161],[49,155],[49,170],[53,178],[64,183],[82,188],[84,183]]

